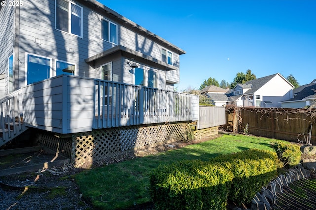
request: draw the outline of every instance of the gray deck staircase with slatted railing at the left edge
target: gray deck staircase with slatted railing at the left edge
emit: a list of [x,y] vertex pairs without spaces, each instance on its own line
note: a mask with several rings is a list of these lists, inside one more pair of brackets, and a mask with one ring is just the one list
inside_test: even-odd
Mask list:
[[0,99],[0,148],[28,129],[23,123],[22,89]]

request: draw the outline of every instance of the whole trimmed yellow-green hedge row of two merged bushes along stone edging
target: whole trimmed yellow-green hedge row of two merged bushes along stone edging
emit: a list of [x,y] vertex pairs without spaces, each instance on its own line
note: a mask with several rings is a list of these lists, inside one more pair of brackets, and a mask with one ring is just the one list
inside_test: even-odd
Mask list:
[[277,175],[275,152],[245,150],[210,161],[182,161],[150,174],[157,209],[226,209],[228,197],[241,204]]

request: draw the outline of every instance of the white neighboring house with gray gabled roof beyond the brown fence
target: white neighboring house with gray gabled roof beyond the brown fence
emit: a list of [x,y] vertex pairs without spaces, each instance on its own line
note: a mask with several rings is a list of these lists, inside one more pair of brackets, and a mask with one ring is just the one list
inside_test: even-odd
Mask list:
[[281,101],[292,98],[294,86],[276,73],[237,84],[226,93],[227,105],[240,107],[281,107]]

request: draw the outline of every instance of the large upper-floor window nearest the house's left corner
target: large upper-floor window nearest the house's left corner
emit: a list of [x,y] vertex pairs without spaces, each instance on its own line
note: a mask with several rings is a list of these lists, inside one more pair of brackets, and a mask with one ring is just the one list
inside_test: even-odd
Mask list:
[[82,7],[68,0],[56,0],[55,28],[82,37]]

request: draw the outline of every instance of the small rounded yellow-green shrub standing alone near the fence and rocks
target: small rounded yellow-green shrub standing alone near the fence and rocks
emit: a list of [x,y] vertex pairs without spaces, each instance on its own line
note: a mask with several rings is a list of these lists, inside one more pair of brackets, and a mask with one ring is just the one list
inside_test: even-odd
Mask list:
[[298,145],[284,142],[271,142],[278,158],[284,163],[284,166],[296,166],[301,161],[301,150]]

